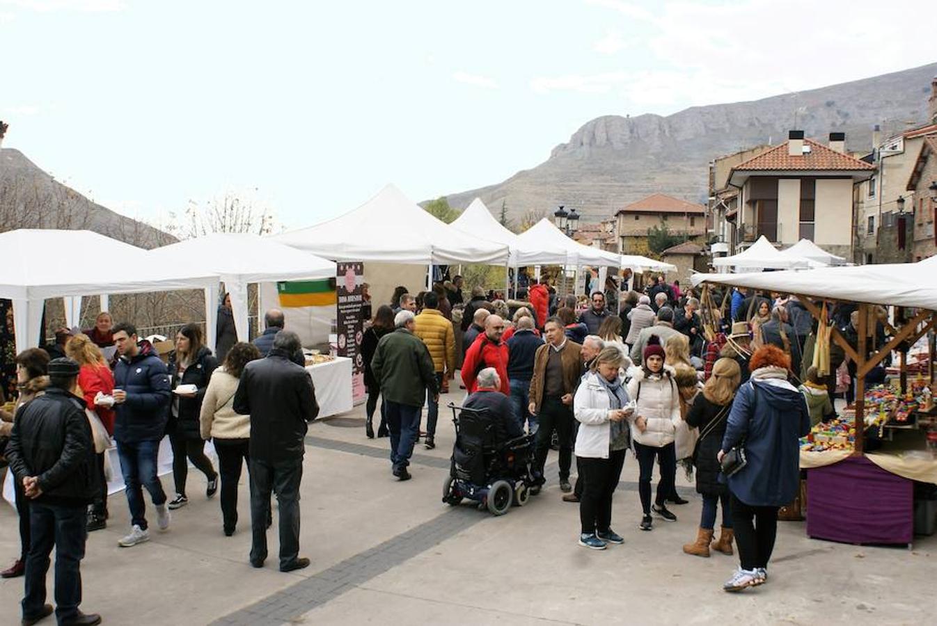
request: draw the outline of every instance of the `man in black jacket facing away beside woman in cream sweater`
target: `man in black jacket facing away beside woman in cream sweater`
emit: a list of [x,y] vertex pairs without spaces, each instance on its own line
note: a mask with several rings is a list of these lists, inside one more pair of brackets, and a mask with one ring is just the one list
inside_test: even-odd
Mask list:
[[305,368],[292,362],[299,336],[276,333],[266,358],[251,361],[234,393],[234,411],[250,415],[250,564],[267,559],[270,495],[280,504],[280,571],[309,565],[299,556],[299,488],[308,422],[319,415],[316,389]]

